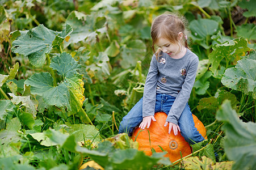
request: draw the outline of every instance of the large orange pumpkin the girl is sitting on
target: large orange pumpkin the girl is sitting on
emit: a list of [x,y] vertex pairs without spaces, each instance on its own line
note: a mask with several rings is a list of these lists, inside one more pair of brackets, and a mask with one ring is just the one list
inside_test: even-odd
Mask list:
[[[146,155],[152,155],[152,148],[156,152],[162,152],[162,149],[167,151],[166,157],[169,157],[171,162],[175,162],[182,157],[191,154],[191,148],[188,142],[182,137],[178,131],[177,135],[174,135],[173,130],[171,134],[168,133],[169,126],[165,125],[167,118],[166,113],[158,112],[154,115],[156,122],[152,121],[148,129],[136,128],[133,131],[132,139],[139,143],[139,150],[145,152]],[[206,130],[204,125],[198,118],[193,114],[195,128],[198,129],[199,133],[206,139]],[[161,146],[161,147],[160,147]],[[161,149],[162,148],[162,149]]]

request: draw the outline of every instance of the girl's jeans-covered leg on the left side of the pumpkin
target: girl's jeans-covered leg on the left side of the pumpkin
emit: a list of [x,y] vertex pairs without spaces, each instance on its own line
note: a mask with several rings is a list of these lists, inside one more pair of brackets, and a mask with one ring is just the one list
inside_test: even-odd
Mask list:
[[120,122],[119,133],[127,133],[131,137],[132,131],[142,122],[142,100],[141,98],[131,111],[123,117]]

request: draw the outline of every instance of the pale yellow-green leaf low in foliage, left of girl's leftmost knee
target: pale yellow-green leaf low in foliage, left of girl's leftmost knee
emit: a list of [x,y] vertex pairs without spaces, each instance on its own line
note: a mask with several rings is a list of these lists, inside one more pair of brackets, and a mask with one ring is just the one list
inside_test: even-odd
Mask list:
[[75,141],[96,141],[100,142],[99,131],[93,125],[84,125],[84,124],[74,124],[68,125],[71,127],[69,129],[69,134],[74,135]]

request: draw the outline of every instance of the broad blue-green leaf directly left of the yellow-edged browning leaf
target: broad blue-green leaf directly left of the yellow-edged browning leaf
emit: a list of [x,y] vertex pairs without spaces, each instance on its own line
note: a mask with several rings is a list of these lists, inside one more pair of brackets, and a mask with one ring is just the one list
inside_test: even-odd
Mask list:
[[64,83],[54,87],[53,78],[49,73],[35,73],[24,84],[31,86],[31,94],[40,95],[48,105],[66,107],[70,111],[69,90]]

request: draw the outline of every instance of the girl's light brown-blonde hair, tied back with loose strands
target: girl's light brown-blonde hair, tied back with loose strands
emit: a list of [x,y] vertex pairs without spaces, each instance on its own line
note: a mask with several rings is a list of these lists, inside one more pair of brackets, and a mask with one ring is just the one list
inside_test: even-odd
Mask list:
[[[163,37],[167,40],[169,40],[173,44],[179,44],[181,48],[182,45],[186,46],[188,48],[187,44],[187,20],[181,15],[178,14],[172,14],[170,12],[166,12],[162,15],[157,16],[151,26],[151,37],[152,37],[152,49],[153,52],[158,56],[158,54],[161,52],[161,49],[158,49],[156,52],[155,44],[160,39],[160,37]],[[178,39],[178,33],[183,33],[183,39]]]

